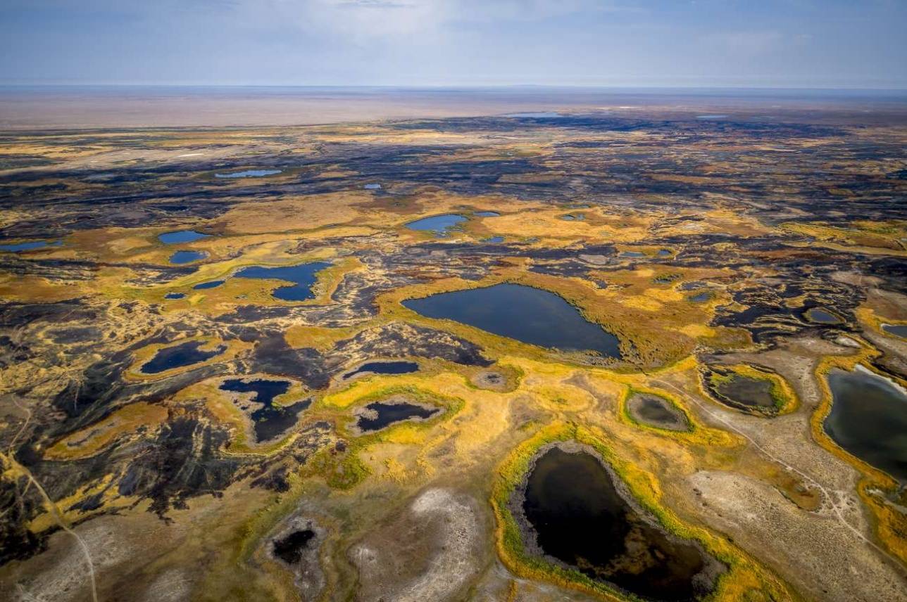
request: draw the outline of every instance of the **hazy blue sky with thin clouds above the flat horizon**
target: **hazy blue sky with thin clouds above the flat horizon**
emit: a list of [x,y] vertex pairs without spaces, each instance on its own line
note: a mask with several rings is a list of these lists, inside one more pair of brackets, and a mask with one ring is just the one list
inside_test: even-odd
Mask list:
[[0,0],[2,84],[907,88],[907,0]]

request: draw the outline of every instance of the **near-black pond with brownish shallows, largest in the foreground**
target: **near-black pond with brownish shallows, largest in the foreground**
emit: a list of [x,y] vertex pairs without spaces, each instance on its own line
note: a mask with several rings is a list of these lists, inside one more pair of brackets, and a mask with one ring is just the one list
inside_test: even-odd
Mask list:
[[717,562],[647,521],[624,495],[598,458],[555,446],[535,461],[522,509],[539,548],[590,578],[656,600],[707,594]]

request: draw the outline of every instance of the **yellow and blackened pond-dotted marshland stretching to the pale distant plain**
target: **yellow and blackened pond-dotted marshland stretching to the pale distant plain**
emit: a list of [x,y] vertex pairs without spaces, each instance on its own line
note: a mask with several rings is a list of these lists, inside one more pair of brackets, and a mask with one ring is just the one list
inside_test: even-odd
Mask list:
[[907,600],[907,114],[697,102],[0,135],[0,591]]

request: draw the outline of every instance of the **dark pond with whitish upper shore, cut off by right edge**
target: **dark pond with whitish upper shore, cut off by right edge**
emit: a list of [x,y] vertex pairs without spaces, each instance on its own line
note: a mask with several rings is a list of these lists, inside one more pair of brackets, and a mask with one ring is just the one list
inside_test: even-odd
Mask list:
[[825,432],[866,463],[907,482],[907,395],[869,370],[832,370]]

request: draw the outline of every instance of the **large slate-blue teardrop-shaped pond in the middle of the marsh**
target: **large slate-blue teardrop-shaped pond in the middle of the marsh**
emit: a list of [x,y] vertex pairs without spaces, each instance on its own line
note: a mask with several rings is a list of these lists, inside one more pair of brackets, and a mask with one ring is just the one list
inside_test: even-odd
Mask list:
[[403,304],[428,318],[455,320],[540,347],[620,357],[617,337],[583,318],[559,295],[531,286],[495,284],[408,299]]

